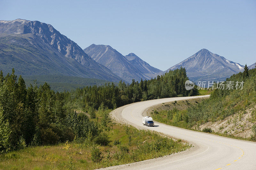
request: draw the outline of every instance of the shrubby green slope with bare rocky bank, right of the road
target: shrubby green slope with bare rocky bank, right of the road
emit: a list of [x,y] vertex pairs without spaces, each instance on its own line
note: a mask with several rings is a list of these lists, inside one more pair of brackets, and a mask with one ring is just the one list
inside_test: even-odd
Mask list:
[[[180,128],[256,141],[256,68],[248,70],[245,67],[243,73],[234,74],[225,83],[227,81],[244,81],[243,89],[215,89],[209,98],[196,104],[187,100],[191,103],[189,107],[184,101],[177,101],[171,108],[156,109],[151,115],[156,121]],[[178,109],[180,104],[183,108]],[[212,128],[220,123],[223,126],[213,131],[206,126],[210,123]],[[241,135],[245,132],[249,134]]]

